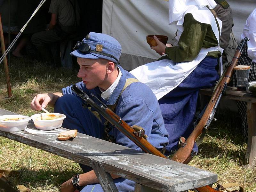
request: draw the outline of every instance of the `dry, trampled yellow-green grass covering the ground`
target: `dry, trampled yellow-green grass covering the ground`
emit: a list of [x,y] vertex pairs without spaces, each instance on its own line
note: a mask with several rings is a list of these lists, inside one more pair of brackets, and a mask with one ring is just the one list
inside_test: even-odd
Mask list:
[[[62,87],[78,82],[76,71],[55,69],[36,60],[11,60],[9,68],[12,93],[7,96],[4,67],[0,66],[0,108],[31,116],[30,102],[38,93],[60,92]],[[47,110],[53,108],[47,107]],[[240,120],[234,115],[219,116],[199,146],[199,155],[189,163],[215,172],[220,183],[236,182],[246,192],[256,191],[256,169],[243,169],[247,144],[242,138]],[[24,185],[31,192],[59,191],[62,182],[82,172],[76,162],[0,137],[0,169],[20,170],[19,177],[7,177],[12,186]],[[1,192],[1,189],[0,189]]]

